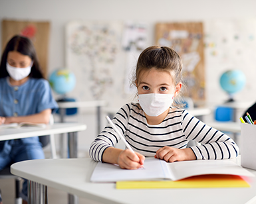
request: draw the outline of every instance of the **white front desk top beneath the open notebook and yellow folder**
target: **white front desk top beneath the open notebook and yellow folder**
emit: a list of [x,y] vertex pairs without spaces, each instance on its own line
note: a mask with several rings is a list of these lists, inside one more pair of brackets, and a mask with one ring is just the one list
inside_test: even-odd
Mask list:
[[245,188],[116,189],[114,183],[90,183],[96,164],[90,159],[30,160],[13,164],[11,173],[101,203],[241,204],[256,195],[256,177]]

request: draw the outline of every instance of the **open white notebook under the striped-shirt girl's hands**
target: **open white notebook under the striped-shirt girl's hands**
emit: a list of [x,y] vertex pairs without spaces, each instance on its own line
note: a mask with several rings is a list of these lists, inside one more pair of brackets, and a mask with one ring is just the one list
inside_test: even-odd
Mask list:
[[119,166],[98,162],[90,181],[142,181],[170,179],[173,181],[204,174],[230,174],[254,176],[231,160],[193,160],[168,163],[156,158],[146,158],[144,168],[124,170]]

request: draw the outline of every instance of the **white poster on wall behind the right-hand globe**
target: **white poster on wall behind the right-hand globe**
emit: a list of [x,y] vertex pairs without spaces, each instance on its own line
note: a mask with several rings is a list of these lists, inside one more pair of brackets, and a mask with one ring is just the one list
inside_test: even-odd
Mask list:
[[235,101],[255,103],[252,93],[256,76],[256,19],[215,19],[203,24],[207,99],[215,103],[227,101],[219,79],[226,71],[240,70],[246,81],[245,87],[234,94]]

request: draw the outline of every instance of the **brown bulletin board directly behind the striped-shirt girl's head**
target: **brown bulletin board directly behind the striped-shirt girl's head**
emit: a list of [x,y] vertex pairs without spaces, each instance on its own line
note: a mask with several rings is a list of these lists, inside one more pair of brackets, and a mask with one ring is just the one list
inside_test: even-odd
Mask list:
[[155,32],[156,44],[173,48],[182,58],[184,95],[205,101],[203,23],[158,23]]

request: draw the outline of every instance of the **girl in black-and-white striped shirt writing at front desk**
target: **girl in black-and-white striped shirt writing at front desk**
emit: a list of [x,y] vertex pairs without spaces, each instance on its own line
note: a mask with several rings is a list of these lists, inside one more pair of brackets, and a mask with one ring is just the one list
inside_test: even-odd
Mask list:
[[[90,157],[126,169],[142,167],[144,156],[166,162],[236,157],[238,147],[229,136],[177,108],[174,97],[180,93],[181,81],[182,60],[174,50],[146,48],[138,58],[134,79],[138,103],[124,105],[112,120],[136,154],[114,148],[120,138],[106,126],[92,142]],[[186,148],[189,140],[201,146]]]

